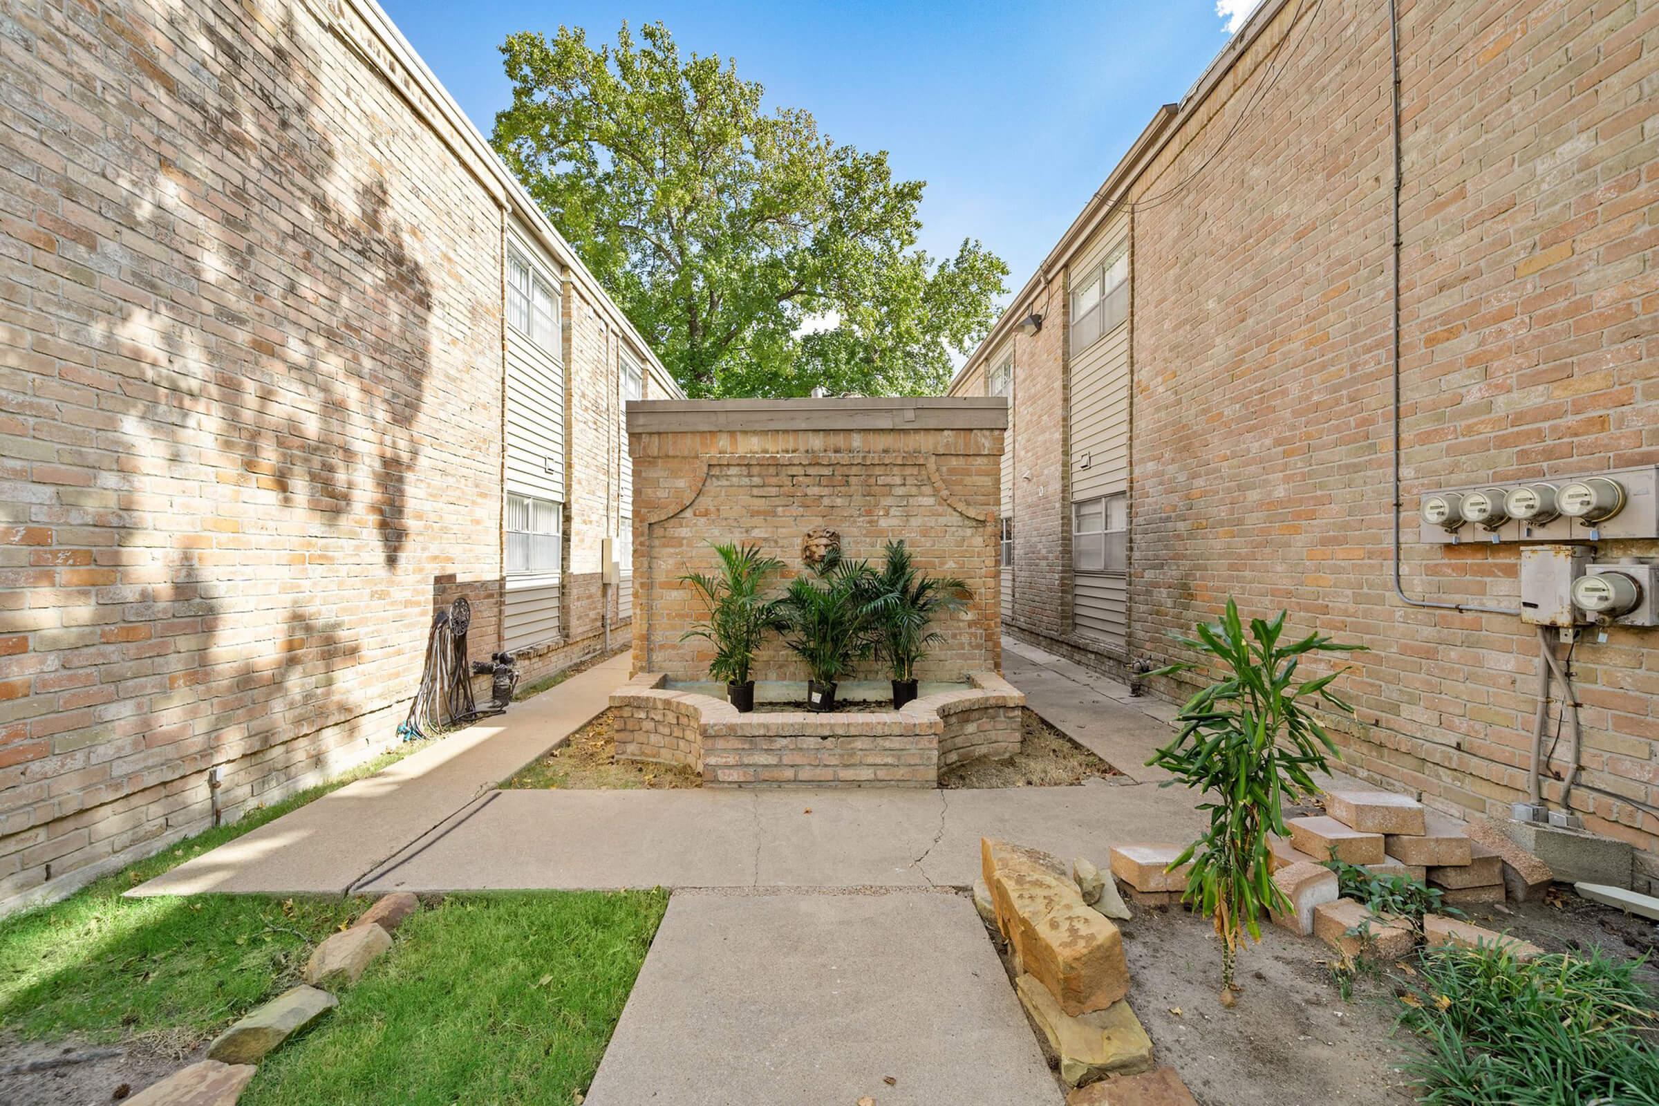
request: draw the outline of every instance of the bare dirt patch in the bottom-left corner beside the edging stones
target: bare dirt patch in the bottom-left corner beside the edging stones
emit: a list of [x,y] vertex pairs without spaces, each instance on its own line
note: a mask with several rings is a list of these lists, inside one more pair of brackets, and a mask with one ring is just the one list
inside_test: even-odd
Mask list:
[[81,1038],[25,1041],[5,1035],[0,1036],[0,1103],[116,1103],[201,1060],[206,1048],[196,1043],[181,1050],[174,1041],[151,1038],[96,1045]]

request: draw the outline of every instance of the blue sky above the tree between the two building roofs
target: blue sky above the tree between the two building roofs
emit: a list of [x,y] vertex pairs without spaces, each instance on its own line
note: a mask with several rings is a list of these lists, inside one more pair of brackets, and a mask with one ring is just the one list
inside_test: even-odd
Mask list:
[[1256,0],[382,3],[484,134],[509,98],[508,33],[567,23],[611,41],[622,20],[662,20],[682,51],[735,58],[773,106],[889,151],[896,176],[927,181],[921,245],[944,255],[977,237],[1017,290]]

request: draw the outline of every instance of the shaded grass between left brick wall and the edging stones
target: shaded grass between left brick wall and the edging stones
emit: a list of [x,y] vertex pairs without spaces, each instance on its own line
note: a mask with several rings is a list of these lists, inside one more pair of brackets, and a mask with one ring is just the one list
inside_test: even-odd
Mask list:
[[340,899],[121,892],[406,756],[375,758],[83,887],[0,919],[0,1028],[30,1038],[211,1036],[304,967],[310,947],[365,905]]

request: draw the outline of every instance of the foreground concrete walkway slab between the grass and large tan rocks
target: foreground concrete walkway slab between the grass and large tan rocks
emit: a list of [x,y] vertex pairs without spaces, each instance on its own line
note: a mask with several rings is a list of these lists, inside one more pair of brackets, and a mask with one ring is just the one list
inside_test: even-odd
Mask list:
[[1060,1106],[962,895],[675,894],[586,1101],[851,1106],[864,1096]]

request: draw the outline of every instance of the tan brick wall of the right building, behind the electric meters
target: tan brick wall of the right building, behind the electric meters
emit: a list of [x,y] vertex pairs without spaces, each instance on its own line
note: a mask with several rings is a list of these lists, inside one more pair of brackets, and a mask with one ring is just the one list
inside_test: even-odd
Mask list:
[[[1659,461],[1659,5],[1402,3],[1400,78],[1405,584],[1515,605],[1518,546],[1417,544],[1415,506],[1437,486]],[[1228,595],[1284,607],[1296,630],[1372,648],[1347,658],[1349,768],[1453,814],[1506,814],[1535,630],[1392,592],[1389,83],[1385,7],[1292,0],[1130,184],[1130,648],[1175,658],[1170,635]],[[1047,383],[1020,381],[1022,434],[1060,420],[1063,361],[1042,365]],[[1659,874],[1659,637],[1584,640],[1573,670],[1573,806]]]

